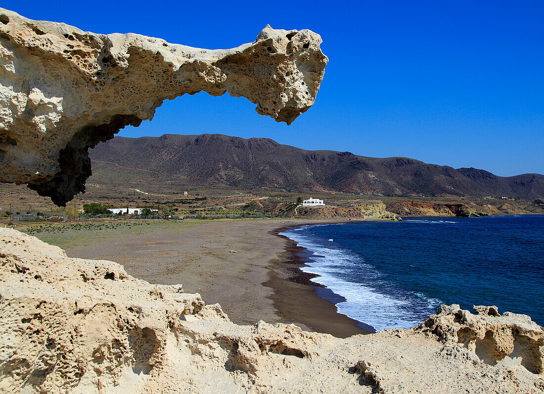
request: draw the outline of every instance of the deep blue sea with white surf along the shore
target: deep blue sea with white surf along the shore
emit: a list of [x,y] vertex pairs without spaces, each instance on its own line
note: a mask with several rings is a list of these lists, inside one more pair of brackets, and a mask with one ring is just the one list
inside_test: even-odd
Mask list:
[[[440,304],[497,305],[544,325],[544,216],[407,218],[282,235],[312,253],[316,291],[375,330],[410,328]],[[367,327],[368,328],[368,327]]]

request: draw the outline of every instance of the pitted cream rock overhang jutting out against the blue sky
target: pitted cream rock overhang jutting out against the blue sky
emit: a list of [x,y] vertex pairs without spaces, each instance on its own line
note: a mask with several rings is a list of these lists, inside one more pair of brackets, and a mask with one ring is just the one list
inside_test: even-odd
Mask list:
[[28,183],[65,205],[85,190],[89,148],[184,94],[228,91],[290,124],[316,99],[328,61],[321,42],[310,30],[267,26],[252,44],[203,50],[0,8],[0,182]]

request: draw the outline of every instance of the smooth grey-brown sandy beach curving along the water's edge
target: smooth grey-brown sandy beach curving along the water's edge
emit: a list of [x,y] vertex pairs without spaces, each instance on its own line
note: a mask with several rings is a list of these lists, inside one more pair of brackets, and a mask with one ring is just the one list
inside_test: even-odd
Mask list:
[[[314,292],[298,269],[302,248],[277,235],[316,220],[208,220],[141,226],[138,233],[66,247],[67,255],[112,260],[157,284],[182,284],[207,304],[219,303],[233,322],[295,323],[338,337],[367,333]],[[334,223],[328,220],[319,223]]]

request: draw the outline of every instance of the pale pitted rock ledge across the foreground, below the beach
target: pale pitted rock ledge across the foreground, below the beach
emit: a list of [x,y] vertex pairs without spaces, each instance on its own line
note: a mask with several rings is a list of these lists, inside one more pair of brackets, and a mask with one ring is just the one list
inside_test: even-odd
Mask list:
[[0,229],[1,392],[541,393],[544,330],[442,305],[411,330],[339,339],[236,325],[181,285]]

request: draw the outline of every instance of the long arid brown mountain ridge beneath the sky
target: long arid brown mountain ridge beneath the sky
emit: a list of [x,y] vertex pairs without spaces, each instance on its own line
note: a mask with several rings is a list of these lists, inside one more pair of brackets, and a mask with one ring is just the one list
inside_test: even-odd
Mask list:
[[408,196],[544,196],[544,176],[500,177],[406,157],[307,151],[268,138],[222,134],[123,138],[90,151],[92,182],[157,181],[252,189],[330,190]]

